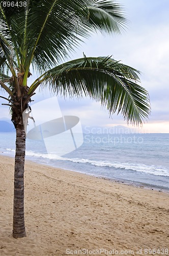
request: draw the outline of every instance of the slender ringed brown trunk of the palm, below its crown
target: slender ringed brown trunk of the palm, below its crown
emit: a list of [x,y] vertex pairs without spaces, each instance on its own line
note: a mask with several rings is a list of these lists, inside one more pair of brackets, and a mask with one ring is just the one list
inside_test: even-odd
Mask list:
[[22,118],[16,124],[16,153],[14,173],[13,237],[26,237],[24,226],[24,160],[25,131]]

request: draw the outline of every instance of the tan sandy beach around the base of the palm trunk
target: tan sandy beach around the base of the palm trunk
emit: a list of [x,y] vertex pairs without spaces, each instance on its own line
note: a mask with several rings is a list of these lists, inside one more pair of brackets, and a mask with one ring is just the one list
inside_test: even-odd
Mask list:
[[28,161],[27,236],[14,239],[14,159],[0,169],[0,255],[167,255],[169,194]]

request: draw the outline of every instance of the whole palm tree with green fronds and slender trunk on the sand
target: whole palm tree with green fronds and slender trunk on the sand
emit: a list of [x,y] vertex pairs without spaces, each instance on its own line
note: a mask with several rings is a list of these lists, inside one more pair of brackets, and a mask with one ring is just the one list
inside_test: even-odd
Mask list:
[[[10,3],[10,4],[9,4]],[[12,4],[13,3],[13,4]],[[13,237],[26,236],[24,226],[25,131],[23,111],[35,90],[43,85],[55,94],[101,101],[110,114],[121,112],[139,125],[149,116],[147,91],[139,72],[110,57],[65,57],[92,32],[120,33],[127,24],[114,0],[2,1],[0,12],[0,84],[9,95],[11,120],[16,129]],[[40,74],[27,86],[30,68]]]

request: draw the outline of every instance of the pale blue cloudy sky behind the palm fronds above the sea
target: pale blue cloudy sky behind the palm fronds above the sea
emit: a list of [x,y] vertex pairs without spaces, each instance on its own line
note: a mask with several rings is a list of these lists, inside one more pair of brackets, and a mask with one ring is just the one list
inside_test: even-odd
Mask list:
[[[111,56],[142,72],[142,86],[149,92],[151,116],[145,121],[140,133],[169,133],[169,1],[168,0],[118,0],[125,7],[129,25],[121,35],[93,34],[75,50],[69,59]],[[31,81],[36,78],[31,77]],[[47,91],[34,97],[39,100],[52,97]],[[75,115],[83,126],[127,125],[122,115],[109,118],[108,111],[99,102],[89,98],[64,99],[58,97],[63,115]],[[1,103],[4,102],[2,99]],[[48,110],[53,119],[54,107]],[[7,106],[1,106],[0,118],[9,117]]]

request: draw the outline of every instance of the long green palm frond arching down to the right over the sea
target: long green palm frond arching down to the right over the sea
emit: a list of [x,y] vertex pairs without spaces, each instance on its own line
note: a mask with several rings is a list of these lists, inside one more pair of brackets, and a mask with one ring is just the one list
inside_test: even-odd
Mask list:
[[150,114],[148,92],[139,85],[139,71],[109,57],[68,61],[37,79],[30,87],[33,93],[40,83],[63,96],[90,96],[107,108],[110,115],[121,113],[127,122],[142,125]]

